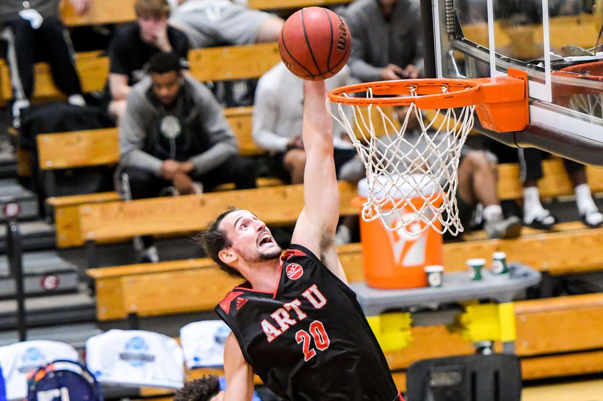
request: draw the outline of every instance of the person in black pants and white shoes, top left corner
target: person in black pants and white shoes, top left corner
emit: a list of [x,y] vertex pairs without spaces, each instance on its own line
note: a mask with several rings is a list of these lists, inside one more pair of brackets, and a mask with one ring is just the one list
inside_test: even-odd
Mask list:
[[[0,31],[7,42],[14,103],[13,126],[21,126],[22,114],[30,107],[34,91],[34,64],[50,64],[52,79],[68,96],[69,103],[83,106],[80,78],[75,69],[71,41],[58,16],[60,0],[3,0]],[[69,0],[78,15],[86,13],[89,0]]]

